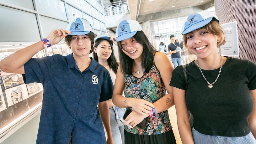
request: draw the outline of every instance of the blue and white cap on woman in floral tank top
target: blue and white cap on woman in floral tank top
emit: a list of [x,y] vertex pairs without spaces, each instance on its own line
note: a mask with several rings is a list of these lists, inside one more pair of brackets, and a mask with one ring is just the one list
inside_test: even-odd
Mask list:
[[141,25],[136,20],[123,20],[117,27],[115,40],[119,42],[124,39],[129,39],[134,36],[137,31],[141,30]]

